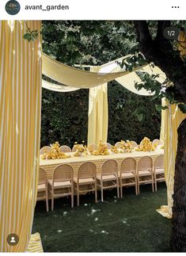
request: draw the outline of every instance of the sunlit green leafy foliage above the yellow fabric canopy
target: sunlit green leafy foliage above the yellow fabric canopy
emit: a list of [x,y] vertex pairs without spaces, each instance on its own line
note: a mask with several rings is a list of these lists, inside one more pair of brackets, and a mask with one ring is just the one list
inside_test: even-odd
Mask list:
[[74,65],[101,65],[137,45],[132,21],[43,21],[43,50]]

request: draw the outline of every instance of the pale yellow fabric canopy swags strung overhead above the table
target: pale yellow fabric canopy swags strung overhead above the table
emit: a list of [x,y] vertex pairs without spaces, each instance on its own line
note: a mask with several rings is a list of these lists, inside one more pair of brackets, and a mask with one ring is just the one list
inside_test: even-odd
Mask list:
[[101,65],[99,68],[99,72],[91,72],[91,71],[82,71],[74,67],[70,67],[64,65],[63,63],[59,63],[55,59],[51,59],[49,56],[43,54],[43,74],[48,78],[55,80],[56,82],[60,82],[65,86],[69,86],[70,88],[67,90],[65,86],[57,86],[54,83],[50,83],[50,85],[43,80],[43,87],[49,90],[57,90],[61,92],[65,91],[73,91],[74,88],[77,89],[85,89],[85,88],[93,88],[95,86],[101,86],[101,84],[105,82],[110,82],[116,79],[122,86],[127,88],[127,90],[131,90],[135,94],[150,96],[150,92],[145,89],[136,90],[135,82],[142,82],[139,78],[139,75],[136,74],[136,71],[147,72],[152,75],[159,75],[158,82],[165,81],[165,74],[158,67],[151,67],[149,64],[143,67],[136,67],[134,71],[123,71],[118,64],[122,59],[126,59],[127,56],[124,56],[120,59],[115,59],[109,63],[105,63]]

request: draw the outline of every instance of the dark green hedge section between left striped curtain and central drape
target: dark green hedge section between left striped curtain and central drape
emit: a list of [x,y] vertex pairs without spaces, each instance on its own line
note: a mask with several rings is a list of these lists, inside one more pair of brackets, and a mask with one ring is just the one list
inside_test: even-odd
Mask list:
[[72,147],[87,139],[89,91],[59,93],[43,89],[41,147],[55,141]]

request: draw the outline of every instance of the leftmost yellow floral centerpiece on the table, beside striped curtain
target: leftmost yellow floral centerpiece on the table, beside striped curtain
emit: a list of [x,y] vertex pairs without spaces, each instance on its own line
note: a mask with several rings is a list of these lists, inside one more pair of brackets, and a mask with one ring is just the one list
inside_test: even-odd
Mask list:
[[66,155],[59,149],[59,142],[51,144],[51,151],[44,151],[44,155],[41,156],[42,159],[67,159],[70,155]]

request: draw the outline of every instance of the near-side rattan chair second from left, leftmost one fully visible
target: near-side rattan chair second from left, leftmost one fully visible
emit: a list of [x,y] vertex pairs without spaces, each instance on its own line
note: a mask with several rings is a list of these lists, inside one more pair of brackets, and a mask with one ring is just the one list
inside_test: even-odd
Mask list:
[[73,168],[69,164],[61,164],[55,167],[52,180],[48,180],[48,188],[51,193],[51,211],[54,210],[54,199],[71,196],[71,207],[74,207],[74,181]]

